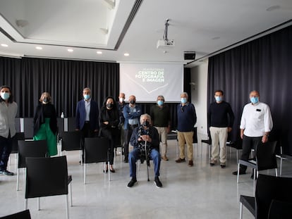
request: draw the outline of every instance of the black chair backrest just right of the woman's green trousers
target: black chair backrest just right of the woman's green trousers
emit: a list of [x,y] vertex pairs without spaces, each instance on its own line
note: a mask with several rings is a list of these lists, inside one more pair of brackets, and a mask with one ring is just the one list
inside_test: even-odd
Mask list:
[[61,151],[75,151],[80,150],[80,132],[63,132],[61,133],[62,148]]

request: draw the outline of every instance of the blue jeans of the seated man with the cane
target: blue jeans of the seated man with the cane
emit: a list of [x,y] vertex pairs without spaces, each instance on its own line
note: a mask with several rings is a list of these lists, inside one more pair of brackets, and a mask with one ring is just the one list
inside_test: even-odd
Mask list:
[[[139,149],[135,148],[129,154],[130,177],[136,178],[136,161],[138,161],[138,159],[139,159]],[[150,160],[152,160],[154,163],[155,177],[159,177],[160,161],[162,161],[159,151],[152,149],[150,152]]]

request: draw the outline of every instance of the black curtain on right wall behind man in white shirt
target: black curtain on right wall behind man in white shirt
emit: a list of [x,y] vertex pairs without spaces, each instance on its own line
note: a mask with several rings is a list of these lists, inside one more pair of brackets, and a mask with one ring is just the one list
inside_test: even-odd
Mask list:
[[224,90],[224,99],[235,113],[231,139],[239,136],[243,106],[252,90],[271,108],[274,127],[271,138],[278,139],[285,154],[292,154],[292,26],[255,39],[209,58],[208,102],[214,91]]

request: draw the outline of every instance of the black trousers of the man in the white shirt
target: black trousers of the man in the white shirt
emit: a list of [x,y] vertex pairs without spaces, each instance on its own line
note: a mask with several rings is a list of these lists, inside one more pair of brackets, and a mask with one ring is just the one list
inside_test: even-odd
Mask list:
[[[243,154],[241,154],[241,160],[248,161],[250,158],[251,149],[257,151],[257,146],[262,144],[262,137],[248,137],[243,134]],[[241,165],[241,170],[246,170],[246,165]]]

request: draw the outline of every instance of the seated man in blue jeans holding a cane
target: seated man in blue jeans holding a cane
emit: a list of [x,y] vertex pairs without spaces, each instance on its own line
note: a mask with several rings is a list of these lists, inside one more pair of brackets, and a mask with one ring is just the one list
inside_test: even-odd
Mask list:
[[[159,180],[159,169],[161,157],[159,154],[159,135],[157,129],[150,125],[151,117],[148,114],[143,114],[140,117],[140,127],[135,127],[133,134],[130,137],[130,144],[134,146],[133,151],[129,154],[130,177],[132,180],[128,183],[128,187],[133,187],[137,182],[136,177],[136,161],[138,159],[147,161],[150,165],[150,159],[154,163],[154,184],[162,187],[162,182]],[[145,145],[146,144],[146,145]]]

